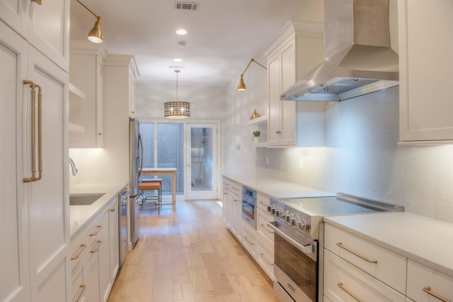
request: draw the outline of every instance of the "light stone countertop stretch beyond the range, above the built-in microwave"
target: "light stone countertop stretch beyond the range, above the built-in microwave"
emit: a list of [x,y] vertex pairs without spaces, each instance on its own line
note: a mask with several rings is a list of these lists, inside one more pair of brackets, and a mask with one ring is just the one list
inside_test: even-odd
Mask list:
[[247,174],[223,174],[223,177],[237,181],[250,189],[260,191],[274,198],[336,196],[335,193],[283,181],[282,179],[273,179],[271,177],[256,177]]

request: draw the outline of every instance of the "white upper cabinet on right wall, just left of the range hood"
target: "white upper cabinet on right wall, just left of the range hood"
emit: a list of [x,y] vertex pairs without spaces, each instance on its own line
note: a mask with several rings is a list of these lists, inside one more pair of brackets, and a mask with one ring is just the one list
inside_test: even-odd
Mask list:
[[[323,146],[325,104],[280,101],[283,91],[323,62],[322,24],[289,21],[266,45],[265,55],[268,57],[268,146]],[[304,112],[304,106],[308,111]],[[321,118],[316,121],[322,126],[317,132],[321,136],[311,135],[299,127],[299,118],[307,112],[311,118]],[[308,138],[304,136],[306,134],[309,134]]]

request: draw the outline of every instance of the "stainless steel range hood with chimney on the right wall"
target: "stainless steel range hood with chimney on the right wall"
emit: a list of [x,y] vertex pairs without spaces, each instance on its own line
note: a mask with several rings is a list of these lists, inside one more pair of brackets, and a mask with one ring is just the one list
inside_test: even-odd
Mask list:
[[324,57],[280,99],[343,101],[398,85],[389,0],[324,0]]

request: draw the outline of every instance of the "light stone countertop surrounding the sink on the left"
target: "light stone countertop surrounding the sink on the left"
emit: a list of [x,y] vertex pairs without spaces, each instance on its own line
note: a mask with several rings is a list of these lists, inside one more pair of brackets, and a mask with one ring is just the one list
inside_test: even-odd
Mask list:
[[112,198],[117,198],[117,195],[128,184],[124,183],[90,183],[76,184],[69,188],[69,194],[91,194],[105,193],[101,198],[89,206],[69,206],[69,233],[74,235],[81,226],[90,220],[93,215],[101,211]]

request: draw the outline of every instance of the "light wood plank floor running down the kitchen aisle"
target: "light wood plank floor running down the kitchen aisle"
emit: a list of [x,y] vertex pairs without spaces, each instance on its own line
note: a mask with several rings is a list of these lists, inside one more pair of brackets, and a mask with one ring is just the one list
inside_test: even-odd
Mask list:
[[217,201],[142,209],[108,301],[278,301],[270,279],[222,220]]

